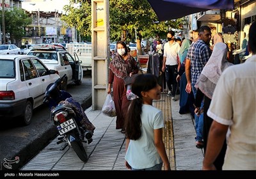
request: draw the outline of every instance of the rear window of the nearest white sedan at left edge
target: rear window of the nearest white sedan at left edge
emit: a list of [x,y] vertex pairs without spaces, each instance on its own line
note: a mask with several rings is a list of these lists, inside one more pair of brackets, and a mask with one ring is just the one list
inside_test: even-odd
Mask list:
[[13,78],[15,77],[14,61],[9,59],[0,59],[0,78]]

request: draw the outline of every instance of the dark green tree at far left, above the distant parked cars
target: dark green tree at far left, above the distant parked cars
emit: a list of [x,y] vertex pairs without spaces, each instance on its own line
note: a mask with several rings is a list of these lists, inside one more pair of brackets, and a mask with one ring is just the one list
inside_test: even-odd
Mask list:
[[[2,13],[0,14],[2,24]],[[19,42],[25,35],[24,28],[31,24],[32,19],[20,8],[10,8],[4,11],[5,34],[10,35],[12,43]]]

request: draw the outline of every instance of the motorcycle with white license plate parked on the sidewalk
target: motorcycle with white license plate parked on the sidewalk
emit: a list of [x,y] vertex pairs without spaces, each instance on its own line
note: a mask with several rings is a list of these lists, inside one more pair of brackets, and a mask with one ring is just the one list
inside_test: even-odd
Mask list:
[[[65,142],[61,150],[67,146],[72,147],[79,159],[87,162],[88,156],[84,150],[83,143],[92,142],[95,127],[84,114],[81,105],[76,102],[67,92],[60,90],[61,82],[67,75],[47,86],[44,95],[44,103],[51,109],[51,120],[54,121],[60,134],[57,144]],[[82,122],[81,122],[82,121]],[[85,123],[82,125],[82,123]]]

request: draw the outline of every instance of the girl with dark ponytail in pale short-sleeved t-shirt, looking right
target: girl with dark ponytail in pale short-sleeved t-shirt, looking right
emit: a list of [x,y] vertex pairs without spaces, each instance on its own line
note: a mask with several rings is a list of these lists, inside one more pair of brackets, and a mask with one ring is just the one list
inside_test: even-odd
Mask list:
[[170,170],[163,143],[164,119],[161,110],[152,106],[161,98],[161,86],[152,74],[138,75],[132,82],[132,100],[125,120],[125,166],[132,170]]

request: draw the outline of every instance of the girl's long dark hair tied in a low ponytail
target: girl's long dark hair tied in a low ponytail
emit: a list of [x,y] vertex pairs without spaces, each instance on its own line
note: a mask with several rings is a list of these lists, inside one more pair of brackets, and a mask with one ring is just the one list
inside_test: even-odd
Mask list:
[[132,93],[139,98],[132,100],[125,119],[125,131],[128,139],[136,140],[141,136],[141,91],[149,91],[157,86],[157,77],[152,74],[140,74],[132,82]]

